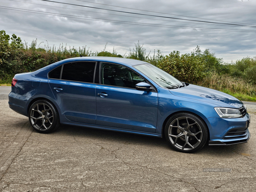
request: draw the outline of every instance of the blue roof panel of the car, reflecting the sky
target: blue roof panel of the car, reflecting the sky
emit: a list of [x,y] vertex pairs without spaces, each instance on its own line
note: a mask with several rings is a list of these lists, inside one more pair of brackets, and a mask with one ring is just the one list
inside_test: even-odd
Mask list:
[[102,62],[111,62],[117,64],[123,64],[125,66],[134,66],[138,64],[148,64],[145,61],[135,60],[135,59],[128,59],[128,58],[119,58],[119,57],[75,57],[75,58],[68,58],[62,60],[61,63],[67,63],[72,61],[102,61]]

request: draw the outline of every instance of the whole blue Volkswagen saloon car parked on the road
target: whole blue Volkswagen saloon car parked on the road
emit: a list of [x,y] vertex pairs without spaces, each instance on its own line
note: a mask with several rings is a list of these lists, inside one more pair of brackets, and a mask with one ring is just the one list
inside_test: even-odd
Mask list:
[[250,115],[235,97],[127,58],[69,58],[16,74],[9,107],[40,133],[74,125],[166,137],[186,153],[250,139]]

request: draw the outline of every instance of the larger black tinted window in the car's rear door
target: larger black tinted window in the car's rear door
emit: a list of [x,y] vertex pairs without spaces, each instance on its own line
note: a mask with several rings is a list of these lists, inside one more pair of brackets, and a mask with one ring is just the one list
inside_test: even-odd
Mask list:
[[93,83],[96,62],[74,62],[64,64],[61,79]]

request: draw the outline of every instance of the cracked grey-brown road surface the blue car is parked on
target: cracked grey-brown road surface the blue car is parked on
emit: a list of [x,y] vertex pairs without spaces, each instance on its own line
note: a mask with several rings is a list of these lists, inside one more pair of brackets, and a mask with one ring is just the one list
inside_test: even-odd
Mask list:
[[0,192],[253,192],[253,113],[249,130],[248,143],[194,154],[176,152],[161,138],[90,128],[40,134],[9,108],[0,88]]

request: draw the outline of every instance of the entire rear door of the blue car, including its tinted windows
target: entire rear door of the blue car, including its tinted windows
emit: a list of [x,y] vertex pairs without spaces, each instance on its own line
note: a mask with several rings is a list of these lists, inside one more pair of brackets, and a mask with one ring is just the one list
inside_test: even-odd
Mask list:
[[70,121],[96,122],[95,68],[96,62],[80,61],[49,72],[52,93]]

